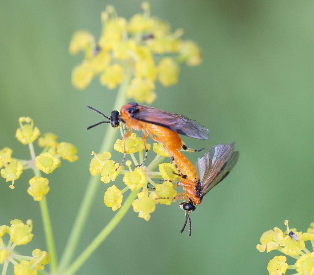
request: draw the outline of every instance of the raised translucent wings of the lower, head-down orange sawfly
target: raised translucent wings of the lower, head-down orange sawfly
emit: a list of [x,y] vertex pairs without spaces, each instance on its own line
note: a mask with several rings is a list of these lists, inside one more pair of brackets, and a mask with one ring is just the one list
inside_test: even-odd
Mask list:
[[235,145],[235,142],[215,145],[197,160],[195,168],[200,179],[201,196],[221,182],[235,166],[239,158],[239,152],[234,152]]

